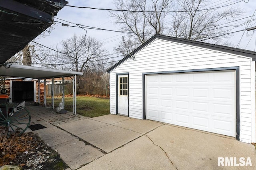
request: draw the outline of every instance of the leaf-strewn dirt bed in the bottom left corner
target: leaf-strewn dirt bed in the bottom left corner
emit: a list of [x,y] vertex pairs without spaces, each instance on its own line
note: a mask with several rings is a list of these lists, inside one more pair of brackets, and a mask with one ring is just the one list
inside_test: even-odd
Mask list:
[[8,139],[0,136],[0,167],[6,164],[22,166],[22,170],[68,168],[60,155],[32,132]]

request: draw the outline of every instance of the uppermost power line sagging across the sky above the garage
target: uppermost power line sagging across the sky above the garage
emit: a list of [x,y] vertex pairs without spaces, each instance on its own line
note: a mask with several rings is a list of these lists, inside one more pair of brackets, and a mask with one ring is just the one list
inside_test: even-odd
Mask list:
[[[242,2],[244,0],[240,0],[239,2]],[[224,6],[218,6],[215,8],[207,8],[207,9],[202,9],[202,10],[185,10],[185,11],[140,11],[140,10],[114,10],[114,9],[109,9],[109,8],[92,8],[92,7],[85,7],[85,6],[72,6],[72,5],[66,5],[69,7],[73,7],[73,8],[86,8],[86,9],[92,9],[92,10],[108,10],[108,11],[116,11],[116,12],[156,12],[156,13],[173,13],[173,12],[195,12],[195,11],[205,11],[205,10],[214,10],[214,9],[218,9],[218,8],[223,8],[223,7],[227,7],[227,6],[231,6],[234,4],[237,4],[239,2],[235,2],[233,4],[228,4],[228,5],[224,5]]]

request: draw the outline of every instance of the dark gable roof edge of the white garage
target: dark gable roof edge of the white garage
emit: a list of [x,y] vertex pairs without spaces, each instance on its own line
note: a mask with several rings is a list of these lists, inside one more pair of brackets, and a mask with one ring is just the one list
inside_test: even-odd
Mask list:
[[146,45],[154,41],[155,39],[161,39],[161,40],[167,40],[170,42],[177,42],[177,43],[183,43],[186,45],[193,45],[196,47],[202,47],[202,48],[207,48],[207,49],[212,49],[212,50],[217,50],[217,51],[222,51],[226,53],[232,53],[236,55],[242,55],[245,57],[251,57],[252,61],[256,61],[256,52],[255,51],[249,51],[245,49],[238,49],[238,48],[233,48],[233,47],[226,47],[223,45],[215,45],[211,43],[204,43],[204,42],[196,42],[192,40],[186,40],[182,38],[175,38],[175,37],[170,37],[170,36],[163,36],[160,34],[154,35],[152,38],[150,38],[148,41],[140,45],[138,48],[136,48],[134,51],[132,51],[130,54],[126,55],[123,59],[121,59],[118,63],[110,67],[107,72],[110,73],[113,69],[115,69],[118,65],[122,64],[126,59],[128,59],[131,55],[137,53],[140,51],[140,49],[144,48]]

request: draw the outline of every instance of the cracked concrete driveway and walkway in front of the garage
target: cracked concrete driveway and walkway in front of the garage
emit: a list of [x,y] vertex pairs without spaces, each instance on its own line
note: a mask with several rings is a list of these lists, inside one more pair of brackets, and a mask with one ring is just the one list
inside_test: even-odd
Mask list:
[[[33,132],[72,170],[256,169],[254,146],[228,136],[118,115],[88,118],[26,107],[31,125],[46,127]],[[233,159],[230,165],[243,165],[244,157],[252,166],[218,166],[218,157]]]

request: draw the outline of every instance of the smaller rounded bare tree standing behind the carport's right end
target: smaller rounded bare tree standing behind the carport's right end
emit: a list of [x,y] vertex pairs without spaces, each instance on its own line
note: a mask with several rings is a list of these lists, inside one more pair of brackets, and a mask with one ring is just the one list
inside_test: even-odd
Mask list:
[[[95,38],[74,35],[72,38],[61,42],[62,45],[62,63],[66,63],[65,69],[84,72],[100,59],[106,56],[106,49],[103,44]],[[79,85],[80,76],[77,76],[77,83]],[[78,86],[79,90],[79,86]],[[79,93],[79,92],[78,92]]]

